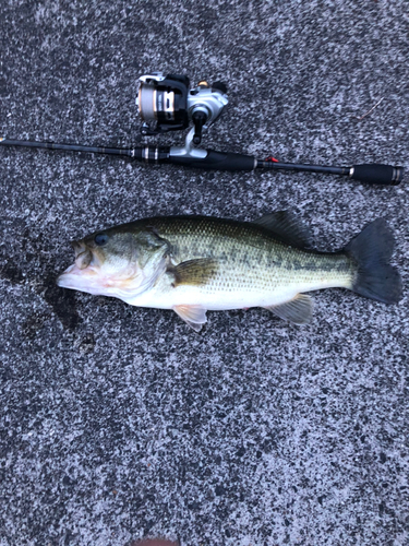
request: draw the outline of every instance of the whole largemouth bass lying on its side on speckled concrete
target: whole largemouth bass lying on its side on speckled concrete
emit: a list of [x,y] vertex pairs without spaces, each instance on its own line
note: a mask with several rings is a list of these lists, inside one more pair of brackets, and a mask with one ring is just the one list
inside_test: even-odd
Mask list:
[[206,311],[262,307],[294,324],[310,322],[310,292],[347,288],[384,304],[401,298],[390,265],[395,240],[383,218],[345,248],[311,248],[310,229],[289,211],[254,222],[158,216],[96,232],[72,242],[75,261],[58,286],[172,309],[199,332]]

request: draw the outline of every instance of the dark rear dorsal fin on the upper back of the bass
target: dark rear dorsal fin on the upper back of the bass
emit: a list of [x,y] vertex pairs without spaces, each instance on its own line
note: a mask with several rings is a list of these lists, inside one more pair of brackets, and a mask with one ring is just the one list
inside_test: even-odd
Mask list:
[[297,248],[311,246],[311,230],[288,211],[273,212],[253,222],[263,226],[286,245]]

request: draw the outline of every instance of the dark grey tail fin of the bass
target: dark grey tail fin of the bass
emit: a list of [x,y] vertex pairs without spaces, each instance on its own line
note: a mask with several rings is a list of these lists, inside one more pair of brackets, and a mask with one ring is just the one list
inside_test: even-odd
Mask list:
[[346,247],[346,253],[357,263],[352,290],[384,304],[401,298],[401,278],[389,264],[395,239],[383,218],[369,224]]

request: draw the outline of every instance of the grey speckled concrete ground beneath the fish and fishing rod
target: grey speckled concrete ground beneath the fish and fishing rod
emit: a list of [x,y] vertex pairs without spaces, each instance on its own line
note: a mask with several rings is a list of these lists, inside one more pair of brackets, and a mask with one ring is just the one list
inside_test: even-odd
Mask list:
[[[0,134],[137,144],[159,69],[226,81],[207,147],[409,167],[408,54],[402,0],[2,0]],[[0,179],[1,546],[409,544],[407,183],[12,149]],[[55,285],[99,227],[282,209],[322,250],[385,217],[404,299],[326,290],[311,325],[210,312],[197,335]]]

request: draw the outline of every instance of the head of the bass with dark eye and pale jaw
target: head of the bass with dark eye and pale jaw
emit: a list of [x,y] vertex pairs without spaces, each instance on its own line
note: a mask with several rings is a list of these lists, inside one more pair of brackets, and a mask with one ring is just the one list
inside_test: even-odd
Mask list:
[[166,269],[166,245],[149,235],[112,228],[72,241],[75,261],[58,286],[125,300],[140,294]]

